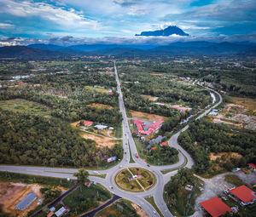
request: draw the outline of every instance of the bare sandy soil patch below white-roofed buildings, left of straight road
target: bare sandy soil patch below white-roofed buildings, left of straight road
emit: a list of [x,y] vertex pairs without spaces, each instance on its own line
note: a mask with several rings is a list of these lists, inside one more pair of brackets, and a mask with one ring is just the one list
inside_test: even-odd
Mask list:
[[105,136],[97,136],[95,134],[90,133],[79,133],[84,139],[90,139],[96,141],[96,146],[98,147],[112,147],[116,143],[118,143],[116,140],[113,140],[112,138],[108,138]]

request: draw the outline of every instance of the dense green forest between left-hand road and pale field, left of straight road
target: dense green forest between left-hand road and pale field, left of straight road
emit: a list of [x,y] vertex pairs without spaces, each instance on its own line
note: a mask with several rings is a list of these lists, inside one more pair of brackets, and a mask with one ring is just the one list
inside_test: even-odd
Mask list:
[[0,110],[0,163],[84,167],[123,156],[122,147],[96,148],[93,140],[57,118]]

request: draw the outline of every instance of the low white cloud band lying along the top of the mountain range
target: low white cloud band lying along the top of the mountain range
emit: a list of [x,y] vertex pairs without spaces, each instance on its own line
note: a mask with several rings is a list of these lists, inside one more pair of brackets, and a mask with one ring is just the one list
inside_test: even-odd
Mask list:
[[[64,39],[64,40],[63,40]],[[54,43],[61,46],[70,46],[78,44],[154,44],[154,45],[167,45],[175,42],[193,42],[193,41],[208,41],[215,43],[223,42],[251,42],[256,43],[256,33],[246,35],[233,35],[233,36],[201,36],[201,37],[181,37],[172,35],[169,37],[57,37],[51,35],[46,38],[23,38],[23,37],[2,37],[0,38],[0,46],[9,45],[28,45],[32,43]]]

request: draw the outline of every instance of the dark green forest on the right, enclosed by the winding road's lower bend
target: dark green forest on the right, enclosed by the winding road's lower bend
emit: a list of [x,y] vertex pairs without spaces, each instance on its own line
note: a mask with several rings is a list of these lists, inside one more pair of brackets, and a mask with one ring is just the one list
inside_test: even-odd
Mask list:
[[223,163],[222,166],[228,171],[232,168],[244,167],[247,163],[256,163],[256,136],[253,131],[211,123],[206,118],[191,123],[189,129],[178,137],[178,143],[189,151],[195,160],[194,169],[197,174],[218,173],[218,170],[209,169],[210,152],[241,154],[240,159],[231,158],[230,162]]

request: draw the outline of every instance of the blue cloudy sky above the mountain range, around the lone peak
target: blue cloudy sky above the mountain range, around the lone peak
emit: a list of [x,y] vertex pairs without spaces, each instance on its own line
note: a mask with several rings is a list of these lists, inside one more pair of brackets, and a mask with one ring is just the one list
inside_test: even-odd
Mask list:
[[[256,0],[0,0],[0,45],[256,43]],[[189,37],[135,37],[178,26]]]

